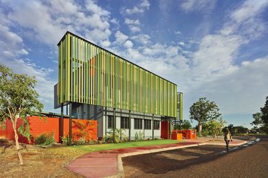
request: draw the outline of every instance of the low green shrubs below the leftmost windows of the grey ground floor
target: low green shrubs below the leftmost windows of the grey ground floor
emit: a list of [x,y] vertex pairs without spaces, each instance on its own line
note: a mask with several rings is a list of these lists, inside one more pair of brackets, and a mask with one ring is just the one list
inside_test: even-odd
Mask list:
[[109,134],[104,136],[102,140],[105,142],[115,142],[115,143],[126,142],[128,138],[124,133],[122,133],[122,131],[125,131],[125,129],[115,128],[114,132],[113,129],[111,129],[111,131],[108,132]]

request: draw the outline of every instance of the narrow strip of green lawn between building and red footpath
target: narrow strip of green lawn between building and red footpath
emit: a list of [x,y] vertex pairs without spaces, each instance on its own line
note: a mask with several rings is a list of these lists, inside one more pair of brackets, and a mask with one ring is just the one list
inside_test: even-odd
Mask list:
[[159,145],[159,144],[172,144],[182,142],[178,140],[148,140],[148,141],[138,141],[138,142],[122,142],[122,143],[109,143],[109,144],[93,144],[93,145],[74,145],[71,147],[52,147],[49,151],[52,153],[60,154],[60,155],[69,155],[69,156],[77,156],[82,153],[103,151],[109,149],[124,149],[130,147],[146,147],[150,145]]

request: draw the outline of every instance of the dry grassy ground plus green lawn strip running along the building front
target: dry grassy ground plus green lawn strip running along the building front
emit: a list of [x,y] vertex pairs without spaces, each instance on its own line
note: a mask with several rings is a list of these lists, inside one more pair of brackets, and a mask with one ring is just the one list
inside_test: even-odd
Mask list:
[[126,147],[140,147],[153,144],[168,144],[176,140],[151,140],[142,142],[125,142],[120,144],[96,144],[51,148],[40,148],[22,144],[21,154],[24,164],[19,165],[14,142],[0,139],[0,177],[80,177],[67,170],[65,166],[83,153]]

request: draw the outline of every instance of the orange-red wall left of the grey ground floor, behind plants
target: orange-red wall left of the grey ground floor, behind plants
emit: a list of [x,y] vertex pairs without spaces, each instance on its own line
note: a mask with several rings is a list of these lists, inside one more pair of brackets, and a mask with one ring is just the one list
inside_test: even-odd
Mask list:
[[[38,116],[30,116],[29,118],[30,123],[30,132],[32,133],[32,136],[36,138],[36,136],[41,135],[41,133],[52,133],[54,131],[54,138],[56,142],[59,142],[59,122],[60,118],[39,118]],[[83,119],[72,119],[72,120],[79,120],[82,123],[87,123],[88,120]],[[94,127],[90,131],[91,137],[93,140],[97,139],[97,120],[89,120]],[[22,124],[22,121],[19,119],[17,123],[17,128],[19,128]],[[74,133],[76,131],[76,125],[73,122],[72,123],[72,129],[71,132]],[[63,119],[63,136],[66,134],[69,135],[69,118]],[[0,128],[0,136],[5,136],[5,138],[10,138],[14,140],[14,131],[12,129],[12,123],[10,120],[7,120],[5,123],[5,129]],[[23,136],[19,136],[19,142],[27,142],[27,139],[23,138]]]

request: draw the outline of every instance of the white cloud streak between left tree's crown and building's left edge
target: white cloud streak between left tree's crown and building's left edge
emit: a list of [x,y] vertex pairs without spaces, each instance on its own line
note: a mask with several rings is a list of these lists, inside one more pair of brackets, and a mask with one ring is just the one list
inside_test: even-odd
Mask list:
[[[3,15],[3,14],[2,14]],[[23,40],[21,36],[10,31],[6,26],[0,23],[0,63],[14,70],[15,73],[25,73],[35,76],[38,83],[36,90],[40,94],[40,101],[45,105],[44,110],[52,111],[54,107],[54,84],[56,81],[49,78],[52,73],[51,68],[41,68],[33,62],[19,58],[21,55],[27,55],[27,51],[23,48]]]

